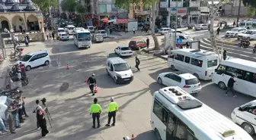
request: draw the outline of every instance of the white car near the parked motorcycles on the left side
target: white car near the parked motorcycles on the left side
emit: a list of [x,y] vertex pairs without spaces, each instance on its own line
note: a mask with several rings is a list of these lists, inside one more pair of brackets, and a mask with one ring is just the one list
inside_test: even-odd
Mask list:
[[46,50],[34,51],[25,54],[20,61],[17,61],[16,64],[25,65],[26,70],[31,70],[33,67],[38,67],[41,65],[49,65],[51,60],[49,56],[49,52]]

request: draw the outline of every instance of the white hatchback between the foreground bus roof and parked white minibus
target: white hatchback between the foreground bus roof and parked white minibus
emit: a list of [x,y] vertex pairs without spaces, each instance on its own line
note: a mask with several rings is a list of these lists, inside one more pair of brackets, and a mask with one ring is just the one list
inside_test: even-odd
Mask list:
[[201,92],[201,83],[196,76],[190,73],[160,73],[157,81],[165,86],[179,86],[189,94],[197,94]]

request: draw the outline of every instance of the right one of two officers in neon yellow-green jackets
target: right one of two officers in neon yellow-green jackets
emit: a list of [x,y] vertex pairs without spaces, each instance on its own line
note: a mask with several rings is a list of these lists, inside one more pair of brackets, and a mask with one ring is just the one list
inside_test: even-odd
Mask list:
[[116,101],[114,101],[114,97],[111,97],[110,103],[108,104],[108,107],[107,107],[108,120],[107,120],[106,126],[110,126],[110,121],[112,117],[113,117],[113,123],[111,124],[111,126],[115,126],[118,108],[119,108],[118,104]]

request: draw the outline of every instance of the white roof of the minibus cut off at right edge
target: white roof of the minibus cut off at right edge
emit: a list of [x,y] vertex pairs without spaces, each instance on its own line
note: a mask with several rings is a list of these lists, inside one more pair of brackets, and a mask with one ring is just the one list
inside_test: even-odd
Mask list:
[[220,64],[223,64],[229,67],[235,67],[240,70],[247,70],[252,73],[256,72],[256,62],[254,61],[246,61],[240,58],[232,58],[226,61],[222,61]]

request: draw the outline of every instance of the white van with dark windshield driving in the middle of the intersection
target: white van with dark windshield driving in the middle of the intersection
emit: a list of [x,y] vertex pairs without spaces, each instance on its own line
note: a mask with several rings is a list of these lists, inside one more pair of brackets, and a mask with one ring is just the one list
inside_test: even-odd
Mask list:
[[106,71],[116,83],[133,81],[133,71],[122,58],[107,58]]

